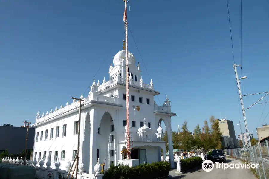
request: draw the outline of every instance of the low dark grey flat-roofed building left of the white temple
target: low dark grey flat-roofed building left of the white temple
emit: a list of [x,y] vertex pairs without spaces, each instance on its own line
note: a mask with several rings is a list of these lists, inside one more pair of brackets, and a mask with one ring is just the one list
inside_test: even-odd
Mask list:
[[[27,127],[0,126],[0,153],[8,149],[9,154],[21,153],[25,150]],[[27,150],[33,150],[35,128],[28,130]]]

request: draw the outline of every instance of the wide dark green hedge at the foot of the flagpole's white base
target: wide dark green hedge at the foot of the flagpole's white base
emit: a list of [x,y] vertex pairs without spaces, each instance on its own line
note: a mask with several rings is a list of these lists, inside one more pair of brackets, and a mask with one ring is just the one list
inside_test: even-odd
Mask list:
[[166,161],[145,163],[134,167],[111,164],[109,169],[103,173],[103,179],[162,179],[167,178],[169,172],[170,163]]

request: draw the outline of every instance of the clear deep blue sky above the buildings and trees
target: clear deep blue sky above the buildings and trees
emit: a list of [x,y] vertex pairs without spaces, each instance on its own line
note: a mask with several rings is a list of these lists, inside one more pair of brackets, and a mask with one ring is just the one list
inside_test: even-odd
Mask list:
[[[226,0],[129,4],[129,26],[145,65],[130,33],[129,50],[141,64],[143,80],[149,83],[152,78],[161,92],[156,103],[163,103],[166,95],[172,101],[178,114],[172,118],[172,129],[186,120],[193,131],[210,115],[220,118],[221,113],[234,121],[239,134],[236,124],[243,118]],[[240,0],[229,0],[229,8],[234,58],[241,64]],[[268,0],[243,0],[242,72],[248,77],[243,94],[269,91],[268,8]],[[125,38],[123,11],[122,0],[1,1],[0,125],[33,123],[38,110],[42,114],[59,108],[71,96],[87,95],[94,78],[108,79],[110,63]],[[261,97],[244,97],[245,107]],[[250,131],[264,121],[269,104],[263,112],[264,106],[247,110]],[[269,124],[269,116],[263,123]]]

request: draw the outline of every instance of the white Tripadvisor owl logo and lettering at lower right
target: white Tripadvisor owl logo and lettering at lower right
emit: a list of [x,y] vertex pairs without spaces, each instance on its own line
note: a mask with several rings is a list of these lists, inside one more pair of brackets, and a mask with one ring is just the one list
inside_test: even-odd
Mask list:
[[[255,164],[255,163],[219,163],[219,162],[216,162],[216,169],[257,169],[259,166],[259,163]],[[214,163],[211,161],[211,160],[205,160],[203,163],[202,163],[202,169],[205,171],[205,172],[211,172],[213,169],[214,169]]]

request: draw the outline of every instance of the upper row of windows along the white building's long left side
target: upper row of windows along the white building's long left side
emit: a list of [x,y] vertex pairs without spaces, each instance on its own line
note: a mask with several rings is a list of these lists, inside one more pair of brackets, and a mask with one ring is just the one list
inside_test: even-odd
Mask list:
[[[65,137],[66,136],[66,124],[64,124],[62,126],[62,137]],[[74,122],[74,135],[78,134],[78,121],[75,121]],[[54,136],[54,128],[51,128],[51,131],[50,131],[50,139],[52,139]],[[60,136],[60,126],[57,126],[56,127],[56,135],[55,135],[55,138],[59,138]],[[45,130],[45,140],[48,139],[48,129]],[[43,140],[43,131],[40,132],[40,138],[39,138],[39,132],[36,133],[36,142],[40,140],[42,141]]]

